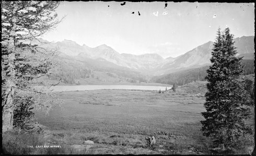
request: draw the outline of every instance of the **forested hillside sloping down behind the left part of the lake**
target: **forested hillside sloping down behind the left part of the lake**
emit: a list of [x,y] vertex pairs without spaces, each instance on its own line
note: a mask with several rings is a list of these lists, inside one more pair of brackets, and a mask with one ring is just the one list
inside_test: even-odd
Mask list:
[[[132,71],[124,67],[115,67],[100,60],[80,61],[76,59],[59,58],[59,69],[54,71],[49,77],[50,80],[61,80],[64,84],[83,84],[84,80],[97,80],[103,82],[148,82],[149,78],[137,71]],[[111,66],[110,66],[111,65]],[[99,74],[101,73],[101,74]]]

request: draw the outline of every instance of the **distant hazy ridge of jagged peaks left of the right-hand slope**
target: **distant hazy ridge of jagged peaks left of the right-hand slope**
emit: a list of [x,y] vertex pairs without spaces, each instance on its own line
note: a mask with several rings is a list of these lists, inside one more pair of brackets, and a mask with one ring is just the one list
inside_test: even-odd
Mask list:
[[156,68],[158,64],[164,60],[164,58],[158,54],[119,54],[106,44],[91,48],[85,44],[80,46],[73,41],[64,40],[62,42],[51,43],[51,46],[57,47],[60,55],[68,55],[79,60],[101,58],[117,64],[118,66],[136,70]]

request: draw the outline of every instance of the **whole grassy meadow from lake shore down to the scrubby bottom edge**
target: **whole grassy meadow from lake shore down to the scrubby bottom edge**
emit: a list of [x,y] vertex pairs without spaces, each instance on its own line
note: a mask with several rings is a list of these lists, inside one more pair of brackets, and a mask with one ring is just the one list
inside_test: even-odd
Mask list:
[[[200,131],[204,92],[205,82],[199,81],[161,94],[122,89],[61,92],[62,108],[53,108],[49,115],[36,112],[38,122],[47,127],[45,133],[6,134],[5,150],[15,147],[14,154],[212,154],[211,140]],[[248,122],[254,124],[254,118]],[[146,145],[149,136],[156,138],[153,148]],[[25,142],[23,147],[10,143],[13,139]],[[86,140],[94,144],[86,145]],[[251,152],[248,148],[237,153]]]

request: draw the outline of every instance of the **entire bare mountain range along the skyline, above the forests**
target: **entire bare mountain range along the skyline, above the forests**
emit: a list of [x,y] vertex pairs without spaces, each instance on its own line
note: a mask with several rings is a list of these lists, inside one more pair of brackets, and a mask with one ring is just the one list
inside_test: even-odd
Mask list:
[[[242,36],[234,38],[234,41],[239,57],[254,59],[254,36]],[[105,64],[108,62],[108,66],[113,66],[114,68],[120,66],[149,75],[162,75],[210,64],[213,42],[209,41],[197,46],[176,58],[169,57],[166,59],[158,54],[120,54],[106,44],[91,48],[85,44],[80,46],[71,40],[50,43],[47,46],[56,47],[61,57],[84,62],[89,61],[92,66],[97,66],[97,63],[101,60]]]

